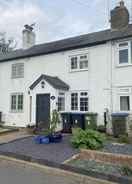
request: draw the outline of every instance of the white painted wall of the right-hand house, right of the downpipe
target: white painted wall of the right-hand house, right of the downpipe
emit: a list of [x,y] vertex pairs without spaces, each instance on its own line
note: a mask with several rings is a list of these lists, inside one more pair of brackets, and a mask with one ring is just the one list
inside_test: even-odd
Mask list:
[[[128,41],[131,38],[128,39]],[[119,41],[120,42],[120,41]],[[112,91],[113,112],[120,112],[120,95],[130,95],[130,112],[132,113],[132,65],[119,66],[118,43],[113,43],[112,49]],[[128,93],[121,92],[128,89]]]

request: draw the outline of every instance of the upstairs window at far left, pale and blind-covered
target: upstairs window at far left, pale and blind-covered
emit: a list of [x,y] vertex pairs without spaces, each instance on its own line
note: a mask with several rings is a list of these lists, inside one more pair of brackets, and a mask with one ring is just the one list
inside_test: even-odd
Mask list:
[[24,77],[24,63],[12,64],[12,78]]

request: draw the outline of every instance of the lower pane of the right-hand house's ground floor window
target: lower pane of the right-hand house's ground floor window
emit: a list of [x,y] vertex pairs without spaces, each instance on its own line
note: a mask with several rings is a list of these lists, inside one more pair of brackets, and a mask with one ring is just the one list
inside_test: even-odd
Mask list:
[[129,111],[130,110],[130,97],[129,96],[121,96],[120,97],[120,110],[121,111]]

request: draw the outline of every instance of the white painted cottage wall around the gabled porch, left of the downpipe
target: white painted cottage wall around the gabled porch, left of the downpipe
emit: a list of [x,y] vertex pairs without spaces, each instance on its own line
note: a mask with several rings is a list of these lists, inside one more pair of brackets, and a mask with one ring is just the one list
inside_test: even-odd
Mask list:
[[[60,52],[33,58],[14,60],[0,63],[0,111],[3,120],[8,125],[26,126],[29,124],[29,96],[33,96],[32,123],[35,123],[35,103],[37,93],[51,93],[57,96],[48,83],[45,89],[38,85],[29,95],[29,86],[41,75],[58,76],[70,86],[66,92],[66,111],[70,109],[70,94],[72,91],[88,91],[89,111],[99,114],[98,123],[103,123],[104,109],[111,107],[111,43],[90,48]],[[70,72],[69,56],[88,53],[89,67],[87,71]],[[11,65],[24,62],[24,78],[11,79]],[[10,95],[14,92],[24,93],[23,113],[11,113]],[[54,107],[55,107],[54,101]]]

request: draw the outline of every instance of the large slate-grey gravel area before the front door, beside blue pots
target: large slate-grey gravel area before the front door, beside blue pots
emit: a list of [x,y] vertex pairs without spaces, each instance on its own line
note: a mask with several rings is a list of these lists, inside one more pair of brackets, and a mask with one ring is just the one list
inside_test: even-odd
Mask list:
[[62,163],[78,153],[71,147],[70,136],[65,135],[61,143],[35,144],[33,137],[28,137],[14,142],[0,145],[0,151],[19,153],[33,158],[46,159],[49,161]]

